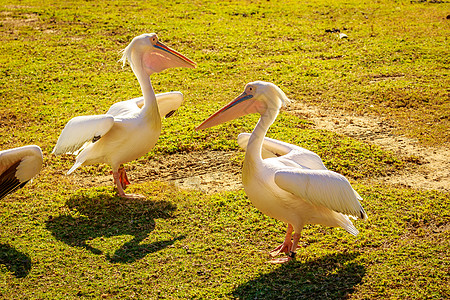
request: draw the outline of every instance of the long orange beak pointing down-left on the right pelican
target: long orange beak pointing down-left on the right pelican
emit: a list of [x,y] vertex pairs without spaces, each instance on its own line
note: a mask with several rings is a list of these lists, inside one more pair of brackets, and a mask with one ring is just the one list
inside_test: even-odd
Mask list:
[[246,92],[240,94],[236,99],[222,107],[215,114],[206,119],[195,130],[213,127],[227,121],[245,116],[251,113],[261,112],[264,104],[253,98]]

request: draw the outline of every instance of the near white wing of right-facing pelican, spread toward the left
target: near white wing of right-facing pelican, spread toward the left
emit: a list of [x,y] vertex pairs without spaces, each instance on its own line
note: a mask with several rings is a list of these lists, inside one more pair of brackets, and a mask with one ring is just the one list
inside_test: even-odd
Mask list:
[[113,125],[114,117],[108,114],[75,117],[64,127],[52,153],[76,154],[87,144],[100,139]]

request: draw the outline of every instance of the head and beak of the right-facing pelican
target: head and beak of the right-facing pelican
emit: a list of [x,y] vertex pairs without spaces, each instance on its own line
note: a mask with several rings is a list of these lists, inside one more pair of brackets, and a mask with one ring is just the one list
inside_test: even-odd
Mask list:
[[130,62],[133,70],[141,66],[147,75],[168,68],[195,68],[195,62],[169,48],[158,40],[156,33],[145,33],[135,37],[123,50],[120,61]]

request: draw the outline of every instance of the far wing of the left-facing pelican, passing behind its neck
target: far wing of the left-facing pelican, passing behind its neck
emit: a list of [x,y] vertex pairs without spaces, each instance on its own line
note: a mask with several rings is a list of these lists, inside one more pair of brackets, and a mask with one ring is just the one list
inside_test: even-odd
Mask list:
[[[237,142],[239,146],[246,150],[250,133],[241,133],[238,136]],[[326,170],[322,159],[316,153],[305,148],[285,143],[279,140],[264,138],[261,155],[263,159],[270,157],[280,157],[283,159],[292,160],[301,165],[303,168],[311,170]],[[282,160],[280,160],[282,162]]]

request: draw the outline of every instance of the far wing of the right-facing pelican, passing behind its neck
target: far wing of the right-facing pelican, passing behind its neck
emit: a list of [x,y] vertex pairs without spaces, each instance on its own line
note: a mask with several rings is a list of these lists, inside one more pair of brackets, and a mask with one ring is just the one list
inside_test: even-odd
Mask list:
[[[183,103],[183,99],[183,94],[180,92],[157,94],[156,102],[158,103],[161,119],[164,119],[168,113],[177,110],[181,103]],[[144,106],[144,97],[138,97],[113,104],[106,114],[115,117],[127,115],[139,111],[142,106]]]

